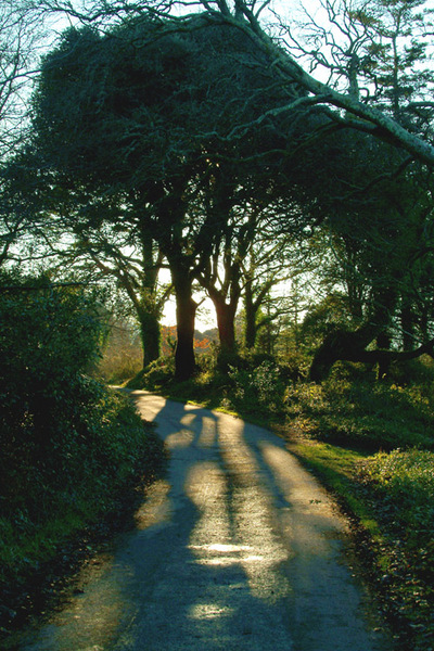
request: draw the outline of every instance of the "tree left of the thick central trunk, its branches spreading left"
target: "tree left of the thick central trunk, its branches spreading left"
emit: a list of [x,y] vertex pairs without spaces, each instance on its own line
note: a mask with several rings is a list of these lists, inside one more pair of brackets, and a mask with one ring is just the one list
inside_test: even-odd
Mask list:
[[140,326],[144,366],[156,359],[169,288],[158,285],[163,256],[123,195],[94,195],[79,186],[73,191],[38,154],[24,151],[3,170],[2,200],[4,220],[20,235],[13,247],[5,246],[4,261],[43,266],[52,278],[73,275],[84,284],[114,279]]

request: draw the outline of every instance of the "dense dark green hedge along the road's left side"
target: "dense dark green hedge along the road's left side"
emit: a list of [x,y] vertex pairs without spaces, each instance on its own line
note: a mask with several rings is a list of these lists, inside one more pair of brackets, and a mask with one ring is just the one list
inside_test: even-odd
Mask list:
[[161,464],[162,445],[128,399],[84,374],[100,337],[98,306],[80,288],[3,277],[0,586],[7,593]]

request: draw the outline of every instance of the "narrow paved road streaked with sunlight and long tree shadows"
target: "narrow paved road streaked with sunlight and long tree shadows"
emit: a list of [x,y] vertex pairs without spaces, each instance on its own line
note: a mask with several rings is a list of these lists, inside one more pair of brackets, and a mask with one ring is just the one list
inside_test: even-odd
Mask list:
[[26,651],[390,651],[345,562],[345,521],[260,427],[133,392],[170,469],[137,531],[87,567]]

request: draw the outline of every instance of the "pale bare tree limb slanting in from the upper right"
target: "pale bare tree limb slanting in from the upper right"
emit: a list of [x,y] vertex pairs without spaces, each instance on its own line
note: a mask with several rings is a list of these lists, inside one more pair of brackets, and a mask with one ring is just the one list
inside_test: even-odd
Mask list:
[[[329,4],[333,7],[333,3]],[[29,5],[31,5],[30,1]],[[394,143],[430,166],[434,164],[434,148],[429,139],[421,139],[408,131],[379,108],[359,101],[353,92],[340,91],[333,87],[333,84],[328,85],[319,81],[291,55],[282,36],[278,39],[270,37],[271,29],[267,31],[267,25],[263,20],[266,14],[265,10],[269,5],[268,1],[259,4],[257,0],[237,0],[232,5],[227,0],[200,0],[199,3],[195,0],[169,0],[165,3],[159,0],[146,0],[144,5],[128,1],[107,5],[104,0],[85,0],[81,2],[80,8],[74,7],[71,2],[62,2],[62,0],[55,2],[43,0],[35,3],[39,11],[49,14],[66,13],[72,20],[86,25],[94,24],[99,29],[106,29],[107,25],[113,26],[113,24],[119,23],[126,17],[131,18],[141,15],[144,11],[154,17],[170,18],[170,30],[173,33],[186,33],[189,29],[187,24],[191,17],[191,14],[188,13],[189,8],[197,11],[197,7],[201,5],[203,8],[201,17],[204,23],[207,22],[209,25],[224,24],[232,27],[240,34],[245,35],[251,46],[256,48],[257,53],[264,53],[264,61],[272,60],[273,71],[282,88],[291,89],[297,86],[305,90],[303,98],[299,95],[294,98],[293,93],[290,92],[284,106],[281,105],[278,108],[263,107],[261,114],[255,118],[258,125],[272,119],[276,115],[283,112],[293,112],[301,106],[306,110],[320,106],[324,108],[324,113],[328,115],[330,127],[333,124],[339,124],[371,133],[375,138]],[[337,12],[334,20],[337,25],[344,21]],[[279,20],[279,22],[282,25],[282,21]],[[288,25],[284,27],[286,29]],[[431,31],[432,28],[429,25],[425,34],[429,36]],[[245,126],[251,127],[252,124]],[[229,129],[227,138],[239,136],[240,128],[241,124],[234,132]]]

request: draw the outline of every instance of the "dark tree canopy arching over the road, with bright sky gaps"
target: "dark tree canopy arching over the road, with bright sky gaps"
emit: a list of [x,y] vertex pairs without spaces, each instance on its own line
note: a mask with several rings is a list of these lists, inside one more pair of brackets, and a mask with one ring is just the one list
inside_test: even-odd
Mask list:
[[[320,4],[334,27],[309,15],[305,36],[283,21],[271,35],[268,3],[253,0],[26,5],[76,25],[44,56],[33,99],[22,161],[41,201],[14,209],[60,216],[74,255],[117,278],[151,358],[157,272],[170,269],[179,376],[194,370],[195,283],[233,342],[239,298],[255,282],[245,260],[256,240],[272,250],[270,231],[288,266],[295,234],[326,233],[317,241],[332,247],[323,259],[334,258],[329,276],[365,332],[360,350],[394,330],[399,309],[405,347],[427,336],[414,319],[427,318],[422,285],[431,292],[431,239],[418,233],[432,210],[432,77],[414,67],[427,43],[409,31],[413,18],[429,30],[424,3]],[[328,84],[306,58],[329,69]],[[140,255],[128,259],[128,246]]]

